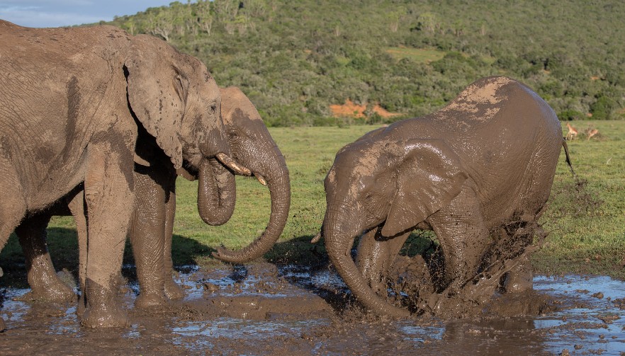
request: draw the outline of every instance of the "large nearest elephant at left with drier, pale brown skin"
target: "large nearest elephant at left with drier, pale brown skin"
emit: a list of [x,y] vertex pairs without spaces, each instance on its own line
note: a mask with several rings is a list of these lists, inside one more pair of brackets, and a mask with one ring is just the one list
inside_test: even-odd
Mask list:
[[83,184],[81,323],[126,325],[115,284],[134,211],[133,161],[149,164],[141,148],[154,142],[171,170],[186,163],[213,174],[203,167],[215,156],[232,166],[219,88],[198,59],[147,35],[6,21],[0,32],[0,246],[24,217]]

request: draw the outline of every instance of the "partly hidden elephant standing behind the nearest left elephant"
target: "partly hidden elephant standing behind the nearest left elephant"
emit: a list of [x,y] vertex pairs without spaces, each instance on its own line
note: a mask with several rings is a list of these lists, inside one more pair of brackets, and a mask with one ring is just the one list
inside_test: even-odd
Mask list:
[[[268,185],[271,194],[271,217],[264,234],[242,251],[220,249],[215,257],[233,263],[244,263],[263,255],[280,236],[288,217],[291,202],[291,186],[288,168],[276,143],[271,138],[264,122],[239,88],[221,88],[222,117],[230,143],[232,158],[249,168],[254,176]],[[152,151],[152,155],[157,150]],[[149,154],[142,154],[147,157]],[[176,173],[167,169],[167,159],[150,159],[149,167],[135,164],[136,209],[130,227],[137,277],[141,293],[135,304],[140,307],[159,305],[167,299],[179,299],[184,293],[171,278],[171,236],[174,222]],[[210,164],[218,163],[213,162]],[[215,169],[216,171],[216,169]],[[223,170],[225,178],[234,178],[232,173]],[[186,178],[196,179],[193,170],[179,171]],[[222,172],[219,172],[220,174]],[[210,177],[209,177],[210,178]],[[208,180],[200,178],[201,180]],[[210,183],[209,183],[210,184]],[[235,185],[221,195],[211,195],[213,190],[198,185],[198,211],[207,224],[224,224],[232,216],[235,207]],[[78,189],[79,190],[79,189]],[[73,199],[77,196],[77,199]],[[32,297],[52,301],[75,298],[67,285],[55,275],[54,267],[45,246],[45,228],[53,214],[72,212],[77,220],[79,248],[85,248],[81,226],[86,224],[80,209],[81,191],[60,201],[54,209],[31,217],[16,229],[28,268],[28,281]],[[79,268],[81,283],[84,281],[84,255],[81,253]]]

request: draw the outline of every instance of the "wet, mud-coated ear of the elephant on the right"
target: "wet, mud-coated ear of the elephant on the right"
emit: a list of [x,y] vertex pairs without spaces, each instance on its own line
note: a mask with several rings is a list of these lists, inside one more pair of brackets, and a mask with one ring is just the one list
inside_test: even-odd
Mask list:
[[424,221],[451,202],[468,178],[461,161],[440,139],[413,139],[397,168],[397,191],[383,236],[395,236]]

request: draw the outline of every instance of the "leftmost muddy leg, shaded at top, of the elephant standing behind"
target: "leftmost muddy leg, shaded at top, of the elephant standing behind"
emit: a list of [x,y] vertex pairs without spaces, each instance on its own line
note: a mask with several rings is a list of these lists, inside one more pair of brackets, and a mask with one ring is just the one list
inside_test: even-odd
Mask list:
[[33,299],[49,302],[70,302],[76,299],[72,288],[60,280],[55,272],[46,246],[46,228],[49,214],[38,214],[24,219],[15,232],[24,257],[30,295]]

